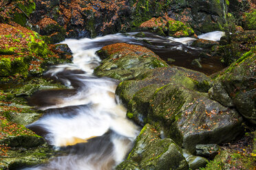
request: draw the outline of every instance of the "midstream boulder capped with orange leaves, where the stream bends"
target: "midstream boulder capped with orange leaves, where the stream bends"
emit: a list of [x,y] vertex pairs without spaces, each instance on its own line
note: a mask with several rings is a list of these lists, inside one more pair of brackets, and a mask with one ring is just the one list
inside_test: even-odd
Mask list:
[[140,45],[116,43],[103,47],[98,54],[105,58],[94,70],[100,77],[131,80],[149,69],[168,66],[153,51]]

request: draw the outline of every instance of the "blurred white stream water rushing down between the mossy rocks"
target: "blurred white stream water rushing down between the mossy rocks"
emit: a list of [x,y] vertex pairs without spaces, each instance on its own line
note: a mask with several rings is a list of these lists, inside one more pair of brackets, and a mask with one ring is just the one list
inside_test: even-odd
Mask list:
[[[166,38],[151,33],[136,38],[135,34],[63,42],[73,52],[73,64],[53,66],[45,76],[68,88],[35,93],[30,103],[45,110],[45,114],[28,128],[64,154],[45,165],[27,169],[107,170],[125,158],[140,127],[126,119],[126,109],[115,96],[118,80],[93,75],[94,68],[100,64],[96,51],[105,45],[128,42],[149,47],[162,58],[168,54],[178,60],[178,65],[187,66],[187,60],[196,58],[201,50],[189,47],[195,38]],[[216,34],[209,36],[215,38]]]

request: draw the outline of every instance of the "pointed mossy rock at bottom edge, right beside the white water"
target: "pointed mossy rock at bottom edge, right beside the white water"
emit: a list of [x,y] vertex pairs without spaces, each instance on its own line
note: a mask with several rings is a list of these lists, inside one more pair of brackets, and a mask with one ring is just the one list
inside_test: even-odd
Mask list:
[[170,138],[160,139],[160,133],[149,124],[136,138],[127,160],[116,169],[188,169],[182,150]]

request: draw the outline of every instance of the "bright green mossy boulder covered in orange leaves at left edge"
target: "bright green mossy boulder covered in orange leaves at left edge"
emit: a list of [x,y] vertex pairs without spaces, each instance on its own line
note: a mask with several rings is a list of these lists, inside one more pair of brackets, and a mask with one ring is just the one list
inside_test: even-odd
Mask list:
[[1,23],[0,32],[1,82],[8,82],[10,76],[42,75],[47,66],[71,62],[70,54],[50,48],[45,38],[30,29]]

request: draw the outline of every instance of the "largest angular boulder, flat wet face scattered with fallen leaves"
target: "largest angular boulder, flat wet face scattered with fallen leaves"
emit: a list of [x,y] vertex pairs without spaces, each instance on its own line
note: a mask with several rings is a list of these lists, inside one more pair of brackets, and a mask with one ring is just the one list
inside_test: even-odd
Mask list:
[[206,93],[168,84],[155,90],[145,112],[141,112],[140,97],[138,92],[128,104],[131,119],[158,125],[191,153],[200,143],[231,141],[241,130],[242,118],[237,112],[209,99]]

